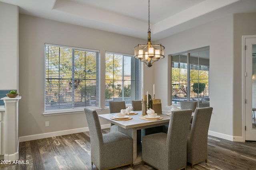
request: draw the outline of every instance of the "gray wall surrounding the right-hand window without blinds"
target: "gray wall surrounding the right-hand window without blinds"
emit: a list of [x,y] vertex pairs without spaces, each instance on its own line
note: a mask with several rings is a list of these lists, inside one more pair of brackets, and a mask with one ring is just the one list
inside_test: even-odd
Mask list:
[[[233,16],[228,16],[158,42],[166,47],[166,54],[210,46],[210,106],[214,109],[209,130],[216,136],[233,136],[233,34]],[[164,106],[170,105],[170,57],[155,66],[155,84],[166,85],[162,91],[157,89],[157,93],[162,101],[168,101]],[[158,74],[164,75],[156,76]]]

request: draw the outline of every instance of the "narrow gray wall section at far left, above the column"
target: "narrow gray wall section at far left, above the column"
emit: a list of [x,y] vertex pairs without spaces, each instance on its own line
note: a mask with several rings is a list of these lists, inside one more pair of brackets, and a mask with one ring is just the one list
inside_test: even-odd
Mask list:
[[18,90],[18,6],[0,2],[0,23],[0,90]]

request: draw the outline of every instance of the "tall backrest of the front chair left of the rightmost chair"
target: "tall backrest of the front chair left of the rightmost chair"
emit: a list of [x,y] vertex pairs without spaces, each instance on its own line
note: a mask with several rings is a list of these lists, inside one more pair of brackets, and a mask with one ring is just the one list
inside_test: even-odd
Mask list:
[[168,167],[172,169],[186,166],[186,145],[191,116],[191,109],[172,111],[166,139]]

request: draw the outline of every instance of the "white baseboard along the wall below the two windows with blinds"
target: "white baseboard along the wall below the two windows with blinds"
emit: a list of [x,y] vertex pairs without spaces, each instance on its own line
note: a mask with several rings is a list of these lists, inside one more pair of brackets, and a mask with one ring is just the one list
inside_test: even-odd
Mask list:
[[[106,129],[106,128],[110,128],[110,124],[101,125],[101,129]],[[61,136],[61,135],[69,135],[69,134],[73,134],[73,133],[80,133],[80,132],[86,132],[86,131],[89,131],[88,127],[82,127],[82,128],[77,128],[77,129],[68,129],[65,131],[41,133],[41,134],[36,134],[36,135],[28,135],[28,136],[19,137],[19,141],[20,142],[32,141],[32,140],[36,140],[36,139],[43,139],[43,138],[55,137],[55,136]]]

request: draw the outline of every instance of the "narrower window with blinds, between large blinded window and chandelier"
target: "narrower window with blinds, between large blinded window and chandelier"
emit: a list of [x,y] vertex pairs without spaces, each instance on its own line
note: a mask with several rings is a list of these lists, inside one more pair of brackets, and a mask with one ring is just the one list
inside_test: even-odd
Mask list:
[[142,62],[130,55],[106,53],[105,101],[141,100]]

